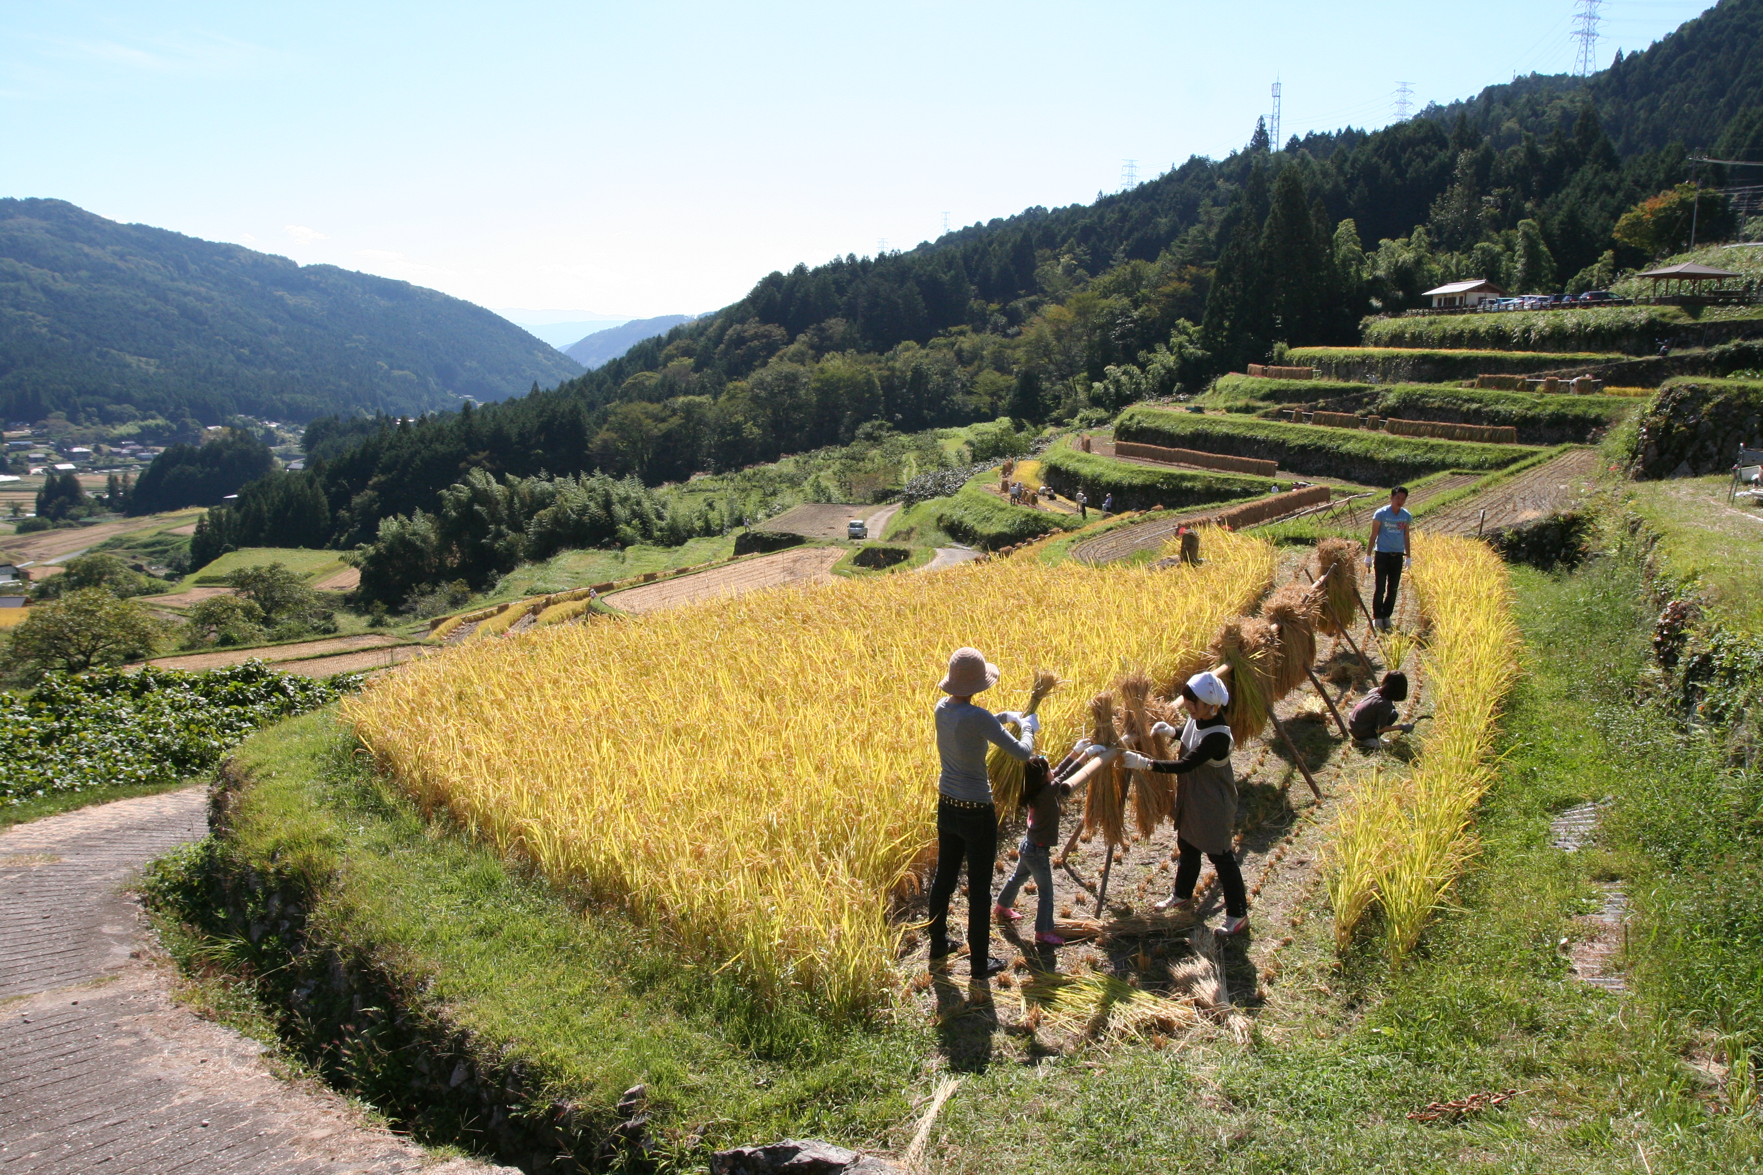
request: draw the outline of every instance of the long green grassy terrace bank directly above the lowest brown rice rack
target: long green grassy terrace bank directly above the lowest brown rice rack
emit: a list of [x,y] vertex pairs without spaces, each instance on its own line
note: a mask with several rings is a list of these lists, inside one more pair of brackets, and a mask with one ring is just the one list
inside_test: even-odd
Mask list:
[[1509,444],[1423,440],[1354,428],[1190,416],[1142,405],[1116,421],[1114,435],[1178,449],[1271,458],[1282,470],[1361,484],[1395,484],[1444,469],[1504,469],[1532,454],[1532,449]]

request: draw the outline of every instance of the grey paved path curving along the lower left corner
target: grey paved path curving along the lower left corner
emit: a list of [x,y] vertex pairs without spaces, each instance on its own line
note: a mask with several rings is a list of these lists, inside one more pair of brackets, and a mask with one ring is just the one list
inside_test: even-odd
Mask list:
[[0,833],[0,1171],[513,1175],[430,1166],[176,1002],[122,886],[205,831],[206,793],[189,787]]

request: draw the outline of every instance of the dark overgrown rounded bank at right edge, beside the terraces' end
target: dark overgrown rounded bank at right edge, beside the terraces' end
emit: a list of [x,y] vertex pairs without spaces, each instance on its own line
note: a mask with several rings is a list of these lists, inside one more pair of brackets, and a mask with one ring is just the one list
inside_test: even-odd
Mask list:
[[1684,375],[1641,410],[1629,460],[1640,477],[1717,474],[1763,440],[1763,381]]

